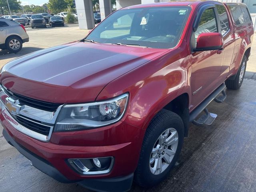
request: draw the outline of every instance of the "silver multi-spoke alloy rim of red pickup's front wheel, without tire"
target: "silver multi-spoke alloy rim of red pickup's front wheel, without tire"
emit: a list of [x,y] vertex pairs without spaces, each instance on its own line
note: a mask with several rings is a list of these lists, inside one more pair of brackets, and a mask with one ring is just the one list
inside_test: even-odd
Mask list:
[[154,175],[161,174],[172,162],[178,147],[178,132],[168,128],[156,140],[150,154],[149,167]]

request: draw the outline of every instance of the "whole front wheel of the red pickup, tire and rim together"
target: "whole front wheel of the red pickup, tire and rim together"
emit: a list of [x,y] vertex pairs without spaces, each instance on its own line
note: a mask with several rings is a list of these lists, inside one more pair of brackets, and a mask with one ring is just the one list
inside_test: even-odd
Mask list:
[[178,160],[184,140],[180,116],[161,110],[148,126],[134,180],[142,187],[151,187],[164,180]]

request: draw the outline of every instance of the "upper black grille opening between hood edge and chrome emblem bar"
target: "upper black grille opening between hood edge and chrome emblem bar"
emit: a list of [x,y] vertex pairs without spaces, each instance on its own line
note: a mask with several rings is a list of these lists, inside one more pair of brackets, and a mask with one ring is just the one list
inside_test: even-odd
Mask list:
[[58,106],[62,105],[58,103],[50,103],[50,102],[28,98],[20,94],[12,93],[10,90],[6,90],[5,88],[4,88],[4,91],[9,96],[14,97],[16,100],[19,100],[20,104],[27,105],[33,108],[44,110],[44,111],[54,112],[57,110]]

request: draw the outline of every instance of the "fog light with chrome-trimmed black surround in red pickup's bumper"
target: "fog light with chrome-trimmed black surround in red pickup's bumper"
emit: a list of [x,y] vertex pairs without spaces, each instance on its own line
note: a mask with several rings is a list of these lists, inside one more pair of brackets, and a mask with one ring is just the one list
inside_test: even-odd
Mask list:
[[80,174],[106,174],[112,169],[114,158],[68,159],[68,163]]

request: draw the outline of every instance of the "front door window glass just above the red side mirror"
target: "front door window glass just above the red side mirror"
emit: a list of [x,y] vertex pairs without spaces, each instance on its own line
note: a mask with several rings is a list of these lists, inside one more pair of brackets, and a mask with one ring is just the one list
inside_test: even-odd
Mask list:
[[195,38],[201,33],[218,32],[217,22],[213,8],[206,9],[200,19],[198,28],[195,32]]

